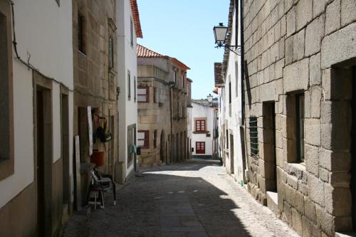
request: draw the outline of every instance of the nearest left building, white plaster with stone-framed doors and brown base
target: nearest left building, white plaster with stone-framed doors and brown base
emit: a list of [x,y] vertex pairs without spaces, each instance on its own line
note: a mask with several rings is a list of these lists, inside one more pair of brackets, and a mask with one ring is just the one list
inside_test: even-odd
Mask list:
[[0,236],[61,236],[73,210],[71,14],[0,0]]

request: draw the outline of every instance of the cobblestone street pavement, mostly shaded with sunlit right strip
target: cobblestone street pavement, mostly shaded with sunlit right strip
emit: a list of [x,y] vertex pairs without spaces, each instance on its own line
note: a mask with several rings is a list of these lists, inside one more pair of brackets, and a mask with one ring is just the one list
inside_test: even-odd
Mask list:
[[64,236],[298,236],[258,204],[219,162],[142,169],[106,208],[75,214]]

